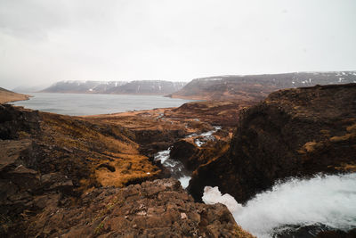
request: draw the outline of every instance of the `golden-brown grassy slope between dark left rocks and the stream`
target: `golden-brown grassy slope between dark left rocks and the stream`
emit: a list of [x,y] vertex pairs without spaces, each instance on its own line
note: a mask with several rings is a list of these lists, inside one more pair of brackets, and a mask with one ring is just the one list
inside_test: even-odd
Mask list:
[[[84,190],[93,184],[93,180],[104,186],[121,187],[132,181],[150,179],[160,172],[146,156],[140,154],[139,145],[115,126],[51,113],[42,115],[44,141],[69,151],[80,151],[78,156],[85,156],[86,166],[92,174],[80,181]],[[102,133],[101,127],[104,131],[109,127],[110,133]]]

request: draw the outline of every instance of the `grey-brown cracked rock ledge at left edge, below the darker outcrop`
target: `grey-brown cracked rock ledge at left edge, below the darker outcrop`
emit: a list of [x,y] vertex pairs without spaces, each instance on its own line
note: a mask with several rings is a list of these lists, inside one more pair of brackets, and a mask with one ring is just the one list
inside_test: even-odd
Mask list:
[[57,206],[73,183],[67,176],[41,176],[32,169],[40,157],[31,140],[0,140],[0,148],[0,236],[12,237],[20,235],[25,217],[48,204]]

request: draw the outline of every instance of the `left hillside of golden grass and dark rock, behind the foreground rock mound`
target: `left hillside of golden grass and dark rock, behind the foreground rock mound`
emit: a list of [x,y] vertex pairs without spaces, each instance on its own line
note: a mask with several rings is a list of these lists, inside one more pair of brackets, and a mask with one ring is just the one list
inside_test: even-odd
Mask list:
[[47,201],[70,206],[93,187],[160,177],[133,138],[123,127],[0,105],[0,236]]

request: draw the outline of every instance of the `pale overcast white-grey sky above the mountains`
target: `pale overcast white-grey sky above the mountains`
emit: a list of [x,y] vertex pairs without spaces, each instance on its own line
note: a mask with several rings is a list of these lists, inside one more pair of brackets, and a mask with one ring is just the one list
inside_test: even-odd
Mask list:
[[0,0],[0,86],[356,70],[354,0]]

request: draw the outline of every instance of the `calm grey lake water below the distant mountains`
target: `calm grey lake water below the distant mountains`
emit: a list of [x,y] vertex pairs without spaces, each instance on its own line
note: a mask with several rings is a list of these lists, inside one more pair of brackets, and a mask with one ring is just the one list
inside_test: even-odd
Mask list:
[[179,107],[191,100],[160,95],[124,94],[48,94],[29,93],[28,101],[12,103],[28,109],[54,112],[72,116],[107,114],[122,111]]

